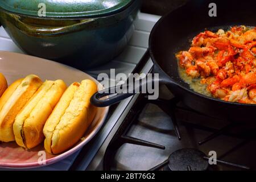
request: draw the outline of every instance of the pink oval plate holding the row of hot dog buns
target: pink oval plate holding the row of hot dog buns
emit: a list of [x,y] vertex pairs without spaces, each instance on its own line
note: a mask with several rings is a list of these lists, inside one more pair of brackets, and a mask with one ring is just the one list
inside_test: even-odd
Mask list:
[[[26,75],[35,74],[42,80],[62,79],[67,85],[75,81],[90,79],[97,83],[98,88],[103,89],[102,85],[93,77],[67,65],[59,64],[54,61],[40,59],[22,55],[19,53],[0,51],[0,72],[5,75],[9,84],[18,78]],[[70,150],[60,155],[48,154],[43,147],[43,143],[32,150],[24,150],[15,142],[0,143],[0,167],[3,168],[36,168],[47,166],[67,158],[69,155],[78,151],[88,143],[103,125],[109,107],[98,107],[96,117],[92,125],[84,134],[84,137]],[[44,153],[45,152],[45,153]],[[46,154],[46,158],[43,158]],[[45,159],[45,160],[44,160]]]

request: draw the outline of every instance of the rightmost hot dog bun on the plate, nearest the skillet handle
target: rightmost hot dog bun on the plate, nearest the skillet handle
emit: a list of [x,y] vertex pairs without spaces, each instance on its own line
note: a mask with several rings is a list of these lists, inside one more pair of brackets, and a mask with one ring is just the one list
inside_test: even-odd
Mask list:
[[44,125],[47,152],[60,154],[81,139],[96,114],[96,107],[90,104],[96,92],[97,85],[91,80],[69,86]]

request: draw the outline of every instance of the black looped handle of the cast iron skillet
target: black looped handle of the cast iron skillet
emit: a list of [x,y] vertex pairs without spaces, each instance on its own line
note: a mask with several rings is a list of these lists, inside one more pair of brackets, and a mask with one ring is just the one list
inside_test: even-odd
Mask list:
[[[138,92],[136,90],[139,90],[139,93],[141,93],[142,87],[146,86],[148,84],[153,84],[152,80],[148,80],[148,77],[144,77],[139,81],[139,85],[135,85],[133,88],[131,88],[131,85],[122,85],[122,88],[126,86],[127,92],[126,93],[120,93],[117,92],[117,90],[121,90],[121,85],[116,85],[108,89],[101,90],[100,92],[95,93],[90,98],[90,103],[97,107],[106,107],[113,104],[117,104],[118,102],[121,102],[122,100],[125,100],[128,97],[134,96]],[[106,96],[111,96],[113,94],[116,94],[115,96],[101,99]]]

